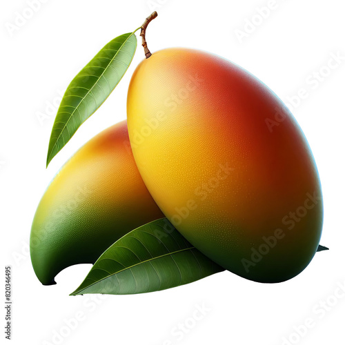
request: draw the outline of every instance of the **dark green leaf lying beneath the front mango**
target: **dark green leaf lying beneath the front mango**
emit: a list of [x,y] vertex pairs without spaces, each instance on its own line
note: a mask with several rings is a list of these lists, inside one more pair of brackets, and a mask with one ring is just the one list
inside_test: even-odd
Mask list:
[[71,295],[148,293],[195,282],[224,270],[158,219],[112,244]]

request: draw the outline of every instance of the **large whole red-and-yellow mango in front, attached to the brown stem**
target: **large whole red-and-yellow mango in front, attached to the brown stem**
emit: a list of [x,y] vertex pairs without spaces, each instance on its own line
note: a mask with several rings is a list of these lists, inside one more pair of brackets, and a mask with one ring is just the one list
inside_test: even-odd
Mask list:
[[255,282],[306,268],[322,233],[319,175],[264,83],[216,55],[170,48],[135,70],[127,113],[141,177],[189,242]]

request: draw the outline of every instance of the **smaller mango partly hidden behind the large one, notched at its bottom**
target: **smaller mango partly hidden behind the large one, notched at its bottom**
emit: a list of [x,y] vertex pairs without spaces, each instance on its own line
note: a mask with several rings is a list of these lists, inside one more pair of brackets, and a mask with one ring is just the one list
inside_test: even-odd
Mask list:
[[34,272],[42,284],[55,284],[64,268],[95,263],[117,239],[161,217],[122,121],[88,141],[48,186],[32,222]]

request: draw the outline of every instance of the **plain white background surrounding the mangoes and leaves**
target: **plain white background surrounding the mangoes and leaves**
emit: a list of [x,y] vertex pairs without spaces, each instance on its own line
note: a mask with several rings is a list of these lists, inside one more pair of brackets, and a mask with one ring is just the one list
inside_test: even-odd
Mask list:
[[[334,297],[337,285],[345,284],[345,60],[317,87],[306,83],[308,76],[327,65],[331,53],[345,57],[345,3],[277,0],[277,8],[240,42],[235,30],[244,30],[246,20],[268,2],[46,0],[19,30],[10,32],[16,12],[22,13],[28,4],[1,1],[1,269],[12,265],[12,344],[57,344],[53,334],[61,331],[61,344],[167,345],[170,340],[181,345],[279,345],[284,337],[290,344],[345,344],[345,297]],[[258,284],[224,272],[159,293],[97,299],[97,295],[68,296],[90,265],[63,270],[55,286],[42,286],[35,277],[28,240],[39,199],[73,152],[126,118],[130,76],[144,58],[141,46],[115,92],[47,170],[55,113],[42,123],[37,114],[46,113],[47,104],[59,98],[59,90],[65,90],[103,45],[141,26],[152,10],[159,14],[146,37],[152,52],[175,46],[214,52],[252,72],[286,102],[300,88],[307,89],[308,97],[293,108],[293,114],[319,168],[325,207],[321,243],[331,250],[317,253],[294,279]],[[260,18],[255,19],[259,23]],[[4,280],[3,275],[3,286]],[[196,304],[209,311],[193,323]],[[4,319],[4,309],[2,313]],[[64,319],[76,313],[83,315],[82,320],[70,330]],[[314,326],[303,337],[294,335],[294,327],[307,318]],[[174,335],[175,327],[185,322],[188,333]]]

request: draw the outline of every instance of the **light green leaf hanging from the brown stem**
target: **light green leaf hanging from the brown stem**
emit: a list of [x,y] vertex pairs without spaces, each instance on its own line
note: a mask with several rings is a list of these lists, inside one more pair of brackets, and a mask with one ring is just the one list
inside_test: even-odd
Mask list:
[[47,166],[114,90],[130,66],[136,48],[134,32],[122,34],[106,44],[72,80],[52,127]]

